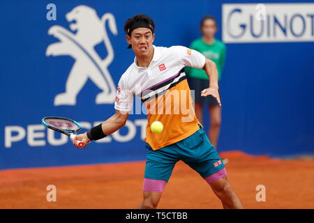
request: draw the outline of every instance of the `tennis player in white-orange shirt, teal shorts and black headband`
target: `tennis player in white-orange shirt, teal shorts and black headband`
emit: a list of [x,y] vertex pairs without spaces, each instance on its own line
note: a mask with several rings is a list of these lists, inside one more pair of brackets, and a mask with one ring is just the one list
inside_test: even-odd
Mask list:
[[[202,96],[212,95],[219,105],[216,65],[200,52],[182,46],[156,47],[155,24],[147,15],[135,15],[126,21],[126,41],[135,54],[134,63],[124,72],[117,87],[116,112],[100,125],[76,139],[85,146],[102,139],[126,124],[128,112],[137,95],[147,108],[147,162],[144,173],[143,201],[139,208],[156,208],[172,174],[174,165],[183,160],[209,183],[223,208],[242,208],[227,181],[227,172],[216,149],[197,120],[184,67],[203,69],[209,87]],[[185,106],[182,106],[185,105]],[[151,123],[164,125],[161,133],[151,132]],[[77,146],[77,140],[73,144]]]

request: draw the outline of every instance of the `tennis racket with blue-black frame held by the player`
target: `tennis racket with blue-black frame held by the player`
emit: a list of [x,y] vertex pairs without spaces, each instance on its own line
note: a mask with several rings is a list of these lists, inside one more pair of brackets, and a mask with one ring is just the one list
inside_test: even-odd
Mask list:
[[[45,117],[41,120],[43,125],[51,130],[61,132],[66,134],[70,139],[75,139],[76,132],[81,130],[81,126],[76,121],[73,121],[69,118],[61,118],[61,117]],[[77,147],[83,148],[84,142],[77,141]]]

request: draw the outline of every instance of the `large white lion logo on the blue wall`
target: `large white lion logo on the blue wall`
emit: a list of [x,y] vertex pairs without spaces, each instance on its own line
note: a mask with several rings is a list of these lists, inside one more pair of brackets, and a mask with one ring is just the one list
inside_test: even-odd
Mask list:
[[[112,104],[116,89],[107,68],[114,59],[114,51],[107,36],[105,22],[108,21],[110,31],[117,36],[114,15],[105,13],[100,19],[93,8],[77,6],[66,14],[66,20],[73,22],[70,30],[76,33],[57,25],[48,30],[48,34],[58,38],[60,42],[49,45],[46,56],[68,55],[75,59],[66,80],[66,92],[56,95],[54,106],[76,105],[77,94],[87,79],[91,79],[102,90],[96,96],[96,104]],[[105,59],[101,59],[94,49],[102,41],[107,49]]]

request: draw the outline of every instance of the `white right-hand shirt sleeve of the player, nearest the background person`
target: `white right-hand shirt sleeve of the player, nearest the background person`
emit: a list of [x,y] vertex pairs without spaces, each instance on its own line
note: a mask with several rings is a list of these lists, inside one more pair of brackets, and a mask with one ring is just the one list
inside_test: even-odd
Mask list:
[[194,49],[183,46],[175,46],[174,50],[179,56],[180,63],[184,66],[202,69],[205,65],[205,56]]

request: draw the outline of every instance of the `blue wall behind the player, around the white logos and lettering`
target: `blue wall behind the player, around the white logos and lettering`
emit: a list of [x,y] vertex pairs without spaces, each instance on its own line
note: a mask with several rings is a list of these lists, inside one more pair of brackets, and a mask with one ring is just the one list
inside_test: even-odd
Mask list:
[[[48,3],[57,6],[56,21],[46,19]],[[95,105],[100,90],[90,80],[77,95],[77,105],[53,105],[54,96],[65,89],[75,60],[70,56],[45,56],[47,46],[59,41],[47,31],[53,25],[68,29],[65,15],[75,6],[90,6],[99,17],[105,13],[114,15],[118,35],[108,31],[114,48],[114,61],[108,69],[117,85],[134,59],[133,52],[126,49],[123,30],[128,17],[144,13],[154,19],[155,45],[188,46],[200,37],[198,26],[204,15],[214,15],[221,27],[222,3],[234,1],[1,1],[0,169],[145,159],[139,126],[131,141],[93,143],[84,150],[74,148],[70,142],[63,146],[46,143],[31,147],[27,137],[11,148],[4,146],[4,129],[8,125],[20,125],[27,130],[27,125],[40,124],[43,116],[66,116],[94,123],[114,114],[113,104]],[[216,37],[221,39],[221,29]],[[96,49],[105,58],[105,47],[100,44]],[[220,88],[223,123],[218,151],[241,150],[272,157],[314,153],[313,52],[313,42],[227,44]],[[129,120],[145,117],[133,114]],[[208,128],[209,122],[204,124]],[[121,130],[121,134],[126,133],[127,128]],[[60,136],[56,133],[55,137]]]

